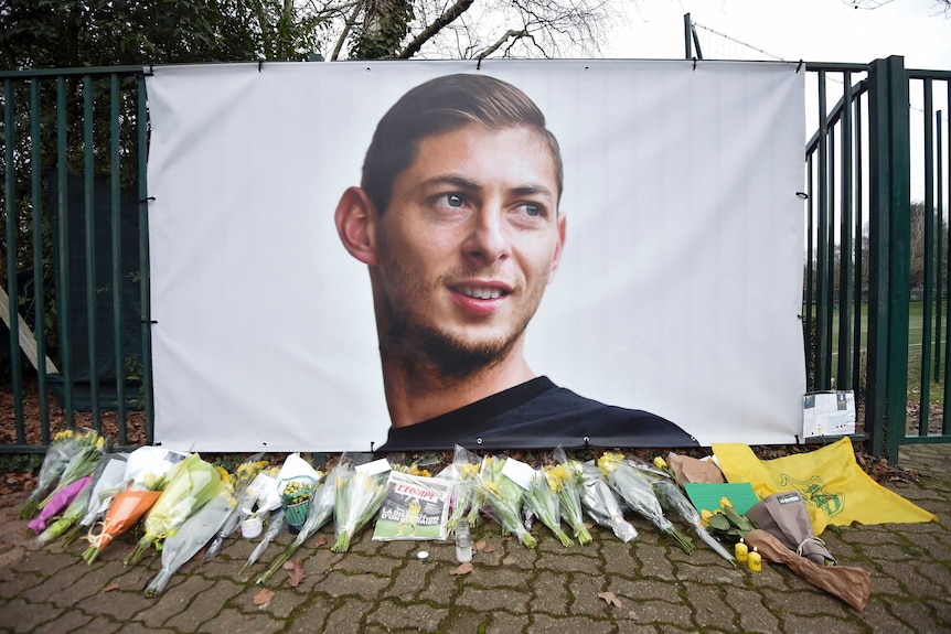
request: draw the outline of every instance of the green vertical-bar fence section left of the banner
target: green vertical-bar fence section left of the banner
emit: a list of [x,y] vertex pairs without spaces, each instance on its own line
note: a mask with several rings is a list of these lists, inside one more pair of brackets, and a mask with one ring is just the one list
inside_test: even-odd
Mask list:
[[[12,442],[4,440],[0,451],[42,451],[52,432],[77,425],[105,430],[120,445],[132,432],[136,442],[151,442],[143,71],[2,72],[0,78],[15,419],[6,437]],[[24,330],[35,342],[30,363],[22,361]],[[30,420],[28,389],[38,402]]]

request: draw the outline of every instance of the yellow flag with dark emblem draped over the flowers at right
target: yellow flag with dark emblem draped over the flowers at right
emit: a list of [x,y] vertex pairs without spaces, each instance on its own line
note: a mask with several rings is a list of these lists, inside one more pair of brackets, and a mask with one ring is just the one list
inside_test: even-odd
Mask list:
[[760,499],[799,491],[815,535],[830,524],[938,522],[862,471],[847,437],[816,451],[774,460],[759,460],[749,445],[741,443],[715,443],[713,451],[727,481],[749,482]]

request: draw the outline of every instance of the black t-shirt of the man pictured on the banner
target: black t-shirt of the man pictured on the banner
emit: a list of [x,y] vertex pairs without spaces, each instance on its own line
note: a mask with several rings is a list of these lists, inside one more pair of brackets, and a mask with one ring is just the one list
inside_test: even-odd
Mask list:
[[377,451],[697,447],[673,422],[639,409],[605,405],[537,377],[448,413],[391,428]]

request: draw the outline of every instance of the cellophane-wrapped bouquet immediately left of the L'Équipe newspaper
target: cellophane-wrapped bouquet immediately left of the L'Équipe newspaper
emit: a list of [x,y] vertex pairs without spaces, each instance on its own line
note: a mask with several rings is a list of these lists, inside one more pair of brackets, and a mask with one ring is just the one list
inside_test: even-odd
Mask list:
[[[374,461],[370,464],[381,463]],[[376,517],[386,498],[389,468],[377,471],[366,466],[370,465],[355,466],[344,454],[331,473],[335,486],[333,520],[336,539],[330,547],[333,552],[350,549],[353,536]]]

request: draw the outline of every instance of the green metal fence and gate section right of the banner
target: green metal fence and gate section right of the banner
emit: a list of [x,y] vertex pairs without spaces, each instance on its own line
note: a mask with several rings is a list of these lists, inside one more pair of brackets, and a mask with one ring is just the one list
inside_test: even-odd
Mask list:
[[819,121],[806,144],[809,387],[854,389],[858,436],[897,460],[902,443],[951,441],[951,72],[906,69],[901,57],[806,67]]

